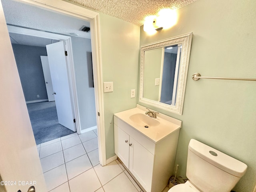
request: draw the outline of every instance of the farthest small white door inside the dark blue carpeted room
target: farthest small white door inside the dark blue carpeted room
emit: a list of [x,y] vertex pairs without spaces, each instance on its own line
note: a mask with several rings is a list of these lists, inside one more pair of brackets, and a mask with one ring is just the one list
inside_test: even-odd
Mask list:
[[54,95],[52,94],[53,93],[52,78],[51,78],[51,72],[50,72],[48,57],[47,56],[40,56],[40,58],[41,58],[43,72],[44,72],[44,80],[45,80],[45,86],[46,86],[48,101],[55,101]]

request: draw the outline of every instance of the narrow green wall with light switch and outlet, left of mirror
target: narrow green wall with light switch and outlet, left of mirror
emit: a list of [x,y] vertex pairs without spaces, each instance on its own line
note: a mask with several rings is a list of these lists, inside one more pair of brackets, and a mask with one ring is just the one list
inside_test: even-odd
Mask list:
[[[100,43],[103,82],[113,82],[113,92],[104,93],[106,158],[114,153],[113,114],[136,107],[131,89],[138,85],[140,27],[100,14]],[[138,90],[136,89],[136,96]]]

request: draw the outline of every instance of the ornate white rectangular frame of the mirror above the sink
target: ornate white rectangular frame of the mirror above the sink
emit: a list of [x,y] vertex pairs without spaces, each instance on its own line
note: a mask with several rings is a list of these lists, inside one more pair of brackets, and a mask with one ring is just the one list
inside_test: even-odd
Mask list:
[[[188,64],[189,64],[189,57],[190,57],[190,49],[191,49],[191,42],[192,42],[192,32],[168,39],[164,39],[161,41],[153,42],[150,44],[146,44],[141,46],[140,52],[140,97],[139,102],[164,109],[179,115],[182,115],[183,104],[184,104],[184,96],[186,90],[186,81],[188,76]],[[143,98],[143,90],[144,90],[144,52],[146,50],[152,50],[155,48],[161,48],[176,44],[182,44],[182,52],[181,52],[181,61],[180,61],[180,71],[179,71],[179,78],[178,78],[178,88],[177,88],[177,96],[176,96],[176,105],[168,105],[158,101],[150,100],[147,98]]]

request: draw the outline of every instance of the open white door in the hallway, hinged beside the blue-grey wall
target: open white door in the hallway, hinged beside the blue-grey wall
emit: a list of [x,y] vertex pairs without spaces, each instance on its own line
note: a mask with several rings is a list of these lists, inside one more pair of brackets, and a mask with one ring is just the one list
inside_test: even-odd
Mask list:
[[76,131],[64,42],[46,45],[59,124]]

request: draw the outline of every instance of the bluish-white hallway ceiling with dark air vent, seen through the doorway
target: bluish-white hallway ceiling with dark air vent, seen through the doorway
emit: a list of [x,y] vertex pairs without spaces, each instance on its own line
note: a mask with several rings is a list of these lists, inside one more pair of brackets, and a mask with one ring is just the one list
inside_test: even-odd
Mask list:
[[79,37],[90,38],[90,32],[80,31],[82,26],[90,26],[90,23],[85,20],[58,14],[13,0],[1,1],[6,23],[9,25],[68,36],[70,36],[70,33],[77,33]]

